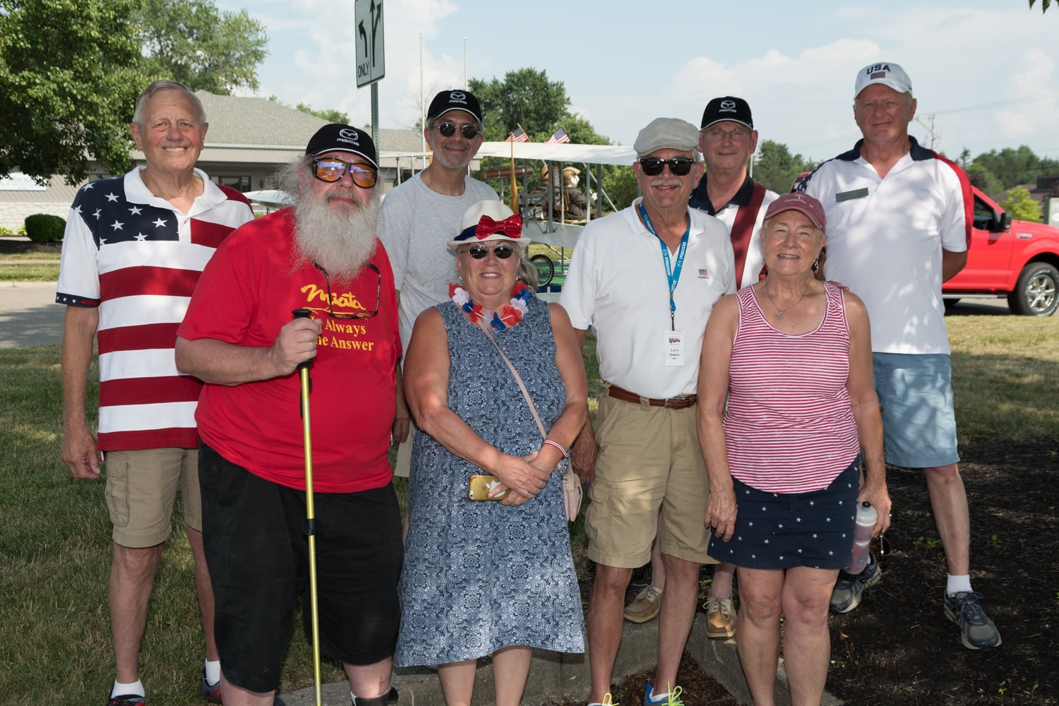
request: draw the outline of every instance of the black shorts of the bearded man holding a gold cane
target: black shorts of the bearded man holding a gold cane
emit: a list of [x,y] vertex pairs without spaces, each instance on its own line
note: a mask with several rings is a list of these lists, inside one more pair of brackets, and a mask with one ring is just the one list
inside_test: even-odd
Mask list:
[[[201,446],[202,540],[213,583],[221,669],[250,691],[272,691],[302,597],[311,636],[305,493],[261,478]],[[352,665],[394,653],[403,558],[393,485],[315,493],[320,648]]]

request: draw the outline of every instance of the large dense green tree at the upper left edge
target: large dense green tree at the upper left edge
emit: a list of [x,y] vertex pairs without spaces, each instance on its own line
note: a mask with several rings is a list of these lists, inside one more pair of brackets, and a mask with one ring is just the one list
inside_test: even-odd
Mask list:
[[131,165],[128,123],[145,80],[128,23],[137,0],[0,0],[0,176],[43,183]]

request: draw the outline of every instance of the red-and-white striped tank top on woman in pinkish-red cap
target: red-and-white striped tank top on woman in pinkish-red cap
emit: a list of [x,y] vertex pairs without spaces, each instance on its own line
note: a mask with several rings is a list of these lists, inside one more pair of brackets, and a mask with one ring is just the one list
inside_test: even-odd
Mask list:
[[798,336],[765,319],[753,288],[736,293],[724,440],[732,475],[769,492],[830,485],[859,453],[849,406],[849,329],[842,291],[825,284],[820,325]]

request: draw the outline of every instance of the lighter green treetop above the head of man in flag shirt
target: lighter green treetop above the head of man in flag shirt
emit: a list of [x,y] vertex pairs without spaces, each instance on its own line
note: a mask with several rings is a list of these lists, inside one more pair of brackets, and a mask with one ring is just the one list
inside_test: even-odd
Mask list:
[[218,11],[209,0],[142,0],[133,21],[148,75],[193,91],[257,89],[268,35],[246,10]]

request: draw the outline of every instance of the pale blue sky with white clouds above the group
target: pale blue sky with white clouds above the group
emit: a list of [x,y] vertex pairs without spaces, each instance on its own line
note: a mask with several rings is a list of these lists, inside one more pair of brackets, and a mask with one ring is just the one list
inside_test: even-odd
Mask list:
[[[900,64],[918,101],[910,132],[958,157],[1028,145],[1059,159],[1059,10],[1026,0],[726,2],[381,0],[379,125],[412,127],[439,90],[533,67],[615,144],[654,117],[696,125],[717,95],[747,98],[762,140],[823,160],[852,146],[859,69]],[[269,36],[258,95],[371,122],[356,85],[354,0],[215,0]],[[486,115],[488,121],[488,115]]]

